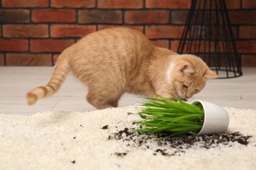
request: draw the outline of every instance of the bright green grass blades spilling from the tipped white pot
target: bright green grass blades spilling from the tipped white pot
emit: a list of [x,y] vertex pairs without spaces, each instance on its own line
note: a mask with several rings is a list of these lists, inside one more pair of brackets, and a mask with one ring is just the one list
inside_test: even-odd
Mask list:
[[203,126],[203,109],[197,105],[188,104],[174,97],[171,101],[165,97],[158,99],[145,98],[139,114],[142,120],[135,121],[139,125],[138,132],[169,133],[168,137],[184,134],[198,133]]

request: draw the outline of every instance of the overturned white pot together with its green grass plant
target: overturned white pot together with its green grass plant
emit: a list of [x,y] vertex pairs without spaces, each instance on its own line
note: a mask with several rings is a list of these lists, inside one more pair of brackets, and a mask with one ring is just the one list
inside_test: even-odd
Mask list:
[[185,103],[174,97],[177,102],[159,96],[159,99],[146,98],[139,112],[142,120],[136,131],[144,134],[164,132],[168,137],[193,133],[210,135],[226,131],[229,117],[226,110],[207,101],[195,100]]

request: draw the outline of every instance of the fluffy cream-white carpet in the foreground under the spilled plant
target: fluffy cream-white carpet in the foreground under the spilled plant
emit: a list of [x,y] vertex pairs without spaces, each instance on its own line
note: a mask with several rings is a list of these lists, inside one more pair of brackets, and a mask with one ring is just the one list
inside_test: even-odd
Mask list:
[[250,135],[248,144],[215,140],[205,146],[209,141],[202,137],[190,147],[175,148],[128,133],[117,140],[121,130],[130,131],[136,127],[132,122],[140,119],[132,106],[1,114],[0,169],[256,169],[256,110],[224,109],[230,115],[227,133]]

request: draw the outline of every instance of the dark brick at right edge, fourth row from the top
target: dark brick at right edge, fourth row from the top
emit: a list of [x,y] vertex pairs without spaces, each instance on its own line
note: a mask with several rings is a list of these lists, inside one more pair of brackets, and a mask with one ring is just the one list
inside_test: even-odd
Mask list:
[[256,53],[256,41],[236,41],[238,53]]

